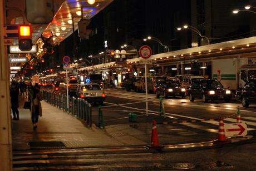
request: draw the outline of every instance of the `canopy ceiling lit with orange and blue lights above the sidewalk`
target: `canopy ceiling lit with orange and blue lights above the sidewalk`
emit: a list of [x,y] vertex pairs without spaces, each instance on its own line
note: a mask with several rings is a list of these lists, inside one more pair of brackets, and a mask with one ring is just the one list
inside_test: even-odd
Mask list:
[[83,14],[84,19],[91,19],[107,5],[109,5],[112,1],[114,0],[64,1],[56,12],[51,23],[49,23],[47,26],[32,26],[33,42],[35,43],[37,41],[37,38],[40,37],[42,33],[44,37],[50,37],[53,33],[55,36],[58,37],[60,42],[63,41],[65,38],[73,33],[72,21],[74,23],[74,30],[76,31],[76,29],[78,28],[78,22],[82,18],[81,13]]

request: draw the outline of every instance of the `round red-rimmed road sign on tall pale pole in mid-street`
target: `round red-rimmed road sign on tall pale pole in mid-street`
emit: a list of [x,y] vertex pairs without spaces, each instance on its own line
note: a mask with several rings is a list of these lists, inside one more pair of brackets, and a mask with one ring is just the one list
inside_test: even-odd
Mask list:
[[[152,54],[152,49],[149,46],[142,46],[139,50],[140,57],[149,60]],[[145,91],[146,91],[146,115],[149,113],[149,104],[147,102],[147,64],[145,63]]]

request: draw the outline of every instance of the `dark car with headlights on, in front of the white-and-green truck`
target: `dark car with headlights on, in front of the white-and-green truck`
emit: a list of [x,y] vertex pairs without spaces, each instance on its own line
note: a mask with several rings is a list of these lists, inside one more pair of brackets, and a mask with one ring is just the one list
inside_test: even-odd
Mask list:
[[225,100],[230,102],[232,93],[229,89],[223,88],[219,81],[214,79],[203,79],[195,81],[189,89],[186,90],[186,95],[189,96],[190,102],[195,99],[203,99],[203,102],[208,100]]

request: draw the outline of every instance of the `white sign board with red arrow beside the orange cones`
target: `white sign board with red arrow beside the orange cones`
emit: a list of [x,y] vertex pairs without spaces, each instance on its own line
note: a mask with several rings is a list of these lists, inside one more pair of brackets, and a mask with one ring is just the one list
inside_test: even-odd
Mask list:
[[247,135],[247,124],[245,123],[225,123],[224,129],[226,137],[244,137]]

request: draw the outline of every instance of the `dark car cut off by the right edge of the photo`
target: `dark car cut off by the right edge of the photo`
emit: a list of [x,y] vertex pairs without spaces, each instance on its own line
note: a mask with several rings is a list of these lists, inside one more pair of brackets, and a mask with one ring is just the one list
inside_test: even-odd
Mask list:
[[256,79],[251,79],[245,83],[243,88],[239,88],[235,97],[242,102],[245,108],[248,108],[250,104],[256,104]]

